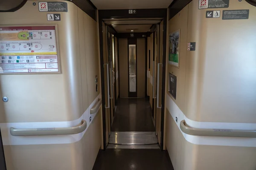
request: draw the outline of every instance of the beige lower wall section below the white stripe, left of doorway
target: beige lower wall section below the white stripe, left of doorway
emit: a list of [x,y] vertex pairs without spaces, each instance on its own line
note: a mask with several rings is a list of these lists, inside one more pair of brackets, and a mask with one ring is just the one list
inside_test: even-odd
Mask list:
[[92,170],[102,140],[102,111],[71,144],[5,145],[8,170]]

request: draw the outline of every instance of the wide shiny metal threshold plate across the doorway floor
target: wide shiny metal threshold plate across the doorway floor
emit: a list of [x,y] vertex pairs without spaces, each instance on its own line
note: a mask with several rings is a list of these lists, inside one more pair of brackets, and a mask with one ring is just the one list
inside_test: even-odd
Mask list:
[[142,145],[157,144],[155,132],[111,132],[109,144]]

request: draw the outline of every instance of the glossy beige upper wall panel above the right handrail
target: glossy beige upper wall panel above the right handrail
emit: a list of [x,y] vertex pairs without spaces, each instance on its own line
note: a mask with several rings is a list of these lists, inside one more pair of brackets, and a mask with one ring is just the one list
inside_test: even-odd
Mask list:
[[202,122],[256,123],[256,7],[230,0],[217,9],[221,17],[222,10],[247,9],[244,20],[211,20],[196,8],[196,0],[189,3],[188,41],[197,49],[188,52],[184,113]]

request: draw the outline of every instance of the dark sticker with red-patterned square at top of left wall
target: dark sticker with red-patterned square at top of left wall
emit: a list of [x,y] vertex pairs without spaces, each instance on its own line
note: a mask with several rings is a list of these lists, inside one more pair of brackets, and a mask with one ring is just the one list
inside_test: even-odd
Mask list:
[[40,12],[45,12],[45,11],[67,12],[67,3],[64,3],[64,2],[39,2],[38,9]]

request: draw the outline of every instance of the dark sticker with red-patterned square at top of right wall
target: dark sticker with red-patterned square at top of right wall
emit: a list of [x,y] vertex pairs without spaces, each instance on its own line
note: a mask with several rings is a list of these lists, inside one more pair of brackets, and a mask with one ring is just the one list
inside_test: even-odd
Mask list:
[[230,0],[199,0],[198,8],[228,8]]

